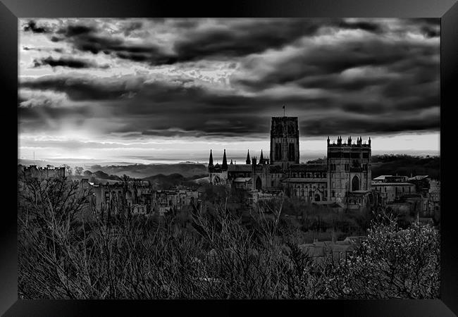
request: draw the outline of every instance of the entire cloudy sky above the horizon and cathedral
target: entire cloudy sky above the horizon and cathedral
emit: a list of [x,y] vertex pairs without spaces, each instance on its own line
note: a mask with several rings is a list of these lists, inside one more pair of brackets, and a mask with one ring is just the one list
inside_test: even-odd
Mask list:
[[439,154],[440,19],[20,19],[18,157],[154,163],[326,139]]

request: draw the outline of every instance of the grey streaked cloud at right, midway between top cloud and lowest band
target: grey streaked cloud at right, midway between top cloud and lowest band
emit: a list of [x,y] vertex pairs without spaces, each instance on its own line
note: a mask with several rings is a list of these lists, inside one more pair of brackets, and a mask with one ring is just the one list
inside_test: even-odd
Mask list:
[[[364,66],[385,66],[388,70],[392,67],[397,71],[426,66],[430,69],[425,75],[430,78],[437,77],[437,73],[431,70],[434,68],[438,70],[438,62],[431,61],[431,58],[438,54],[436,46],[384,42],[379,39],[364,42],[353,40],[339,45],[322,44],[313,48],[298,49],[296,54],[283,58],[283,60],[280,59],[282,58],[280,56],[280,61],[275,61],[274,67],[270,67],[268,71],[263,69],[266,68],[266,64],[262,56],[249,58],[242,67],[249,73],[259,73],[259,76],[252,79],[235,77],[234,80],[252,89],[266,89],[272,85],[294,82],[299,86],[309,88],[359,89],[364,86],[364,82],[372,85],[373,79],[360,78],[356,80],[359,82],[355,82],[355,80],[344,80],[340,77],[340,73],[349,68]],[[424,61],[425,58],[426,61]],[[419,68],[419,71],[421,70],[423,69]]]

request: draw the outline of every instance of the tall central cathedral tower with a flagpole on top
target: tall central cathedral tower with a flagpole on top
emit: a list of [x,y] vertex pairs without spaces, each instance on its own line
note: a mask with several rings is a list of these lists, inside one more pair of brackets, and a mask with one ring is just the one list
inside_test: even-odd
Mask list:
[[283,169],[299,163],[299,125],[297,117],[272,117],[271,163]]

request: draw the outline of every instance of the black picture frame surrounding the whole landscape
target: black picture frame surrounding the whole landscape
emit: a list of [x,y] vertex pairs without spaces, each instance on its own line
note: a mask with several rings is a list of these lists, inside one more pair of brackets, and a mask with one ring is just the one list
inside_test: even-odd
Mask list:
[[[457,107],[455,83],[458,70],[458,4],[456,0],[249,0],[206,4],[204,1],[147,1],[147,0],[1,0],[1,96],[3,104],[4,154],[11,162],[18,149],[18,140],[11,127],[17,118],[13,104],[18,99],[18,18],[63,17],[371,17],[371,18],[441,18],[440,35],[440,169],[442,175],[441,202],[441,288],[440,299],[390,299],[390,300],[322,300],[322,301],[125,301],[125,300],[19,300],[17,274],[17,217],[13,199],[17,190],[16,166],[4,163],[4,204],[1,209],[0,229],[0,313],[4,316],[92,316],[131,315],[145,313],[185,313],[209,311],[211,313],[238,313],[248,304],[256,311],[300,314],[338,313],[340,316],[456,316],[458,314],[458,242],[456,211],[454,211],[452,184],[454,164],[451,163],[454,136],[454,116]],[[446,128],[450,127],[450,132]],[[8,145],[6,145],[8,140]],[[447,143],[446,143],[447,142]],[[447,154],[447,152],[449,154]],[[450,163],[447,163],[450,162]],[[9,168],[8,168],[9,166]],[[450,168],[450,170],[448,169]],[[445,171],[445,173],[442,173]],[[450,185],[447,185],[450,182]],[[16,187],[17,188],[17,187]],[[11,194],[8,193],[11,191]],[[13,192],[16,191],[16,192]],[[445,204],[444,204],[445,203]],[[447,208],[450,206],[450,209]],[[455,207],[456,208],[456,207]],[[209,306],[210,304],[210,306]],[[291,306],[294,306],[294,310]],[[209,308],[210,307],[210,308]],[[161,309],[161,312],[159,311]],[[166,309],[166,311],[162,311]],[[245,309],[244,309],[245,310]],[[256,312],[259,313],[259,312]]]

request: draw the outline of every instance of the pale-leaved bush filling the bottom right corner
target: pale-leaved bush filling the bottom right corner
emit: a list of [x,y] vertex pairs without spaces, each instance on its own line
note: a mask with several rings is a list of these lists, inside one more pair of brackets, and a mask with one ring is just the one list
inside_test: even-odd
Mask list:
[[333,268],[328,297],[438,298],[438,230],[417,223],[402,230],[394,219],[381,217],[354,254]]

